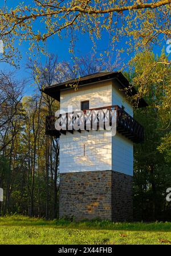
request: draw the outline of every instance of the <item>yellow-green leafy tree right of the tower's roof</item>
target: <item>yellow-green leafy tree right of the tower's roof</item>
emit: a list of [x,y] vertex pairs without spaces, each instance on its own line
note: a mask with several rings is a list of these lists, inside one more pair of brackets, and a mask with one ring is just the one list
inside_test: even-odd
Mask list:
[[130,62],[132,86],[138,88],[137,97],[145,96],[150,107],[156,109],[157,129],[164,132],[160,152],[170,152],[171,138],[171,67],[168,65],[168,56],[161,53],[155,56],[153,52],[137,54]]

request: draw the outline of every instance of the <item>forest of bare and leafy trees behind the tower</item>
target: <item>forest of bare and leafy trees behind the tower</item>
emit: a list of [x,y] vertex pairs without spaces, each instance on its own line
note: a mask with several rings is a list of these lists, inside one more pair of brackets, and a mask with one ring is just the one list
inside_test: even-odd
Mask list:
[[[137,87],[146,78],[143,95],[149,103],[146,109],[135,108],[135,119],[145,127],[144,143],[134,148],[135,220],[171,220],[171,204],[165,200],[166,189],[171,187],[170,101],[169,90],[164,90],[164,86],[170,87],[170,66],[166,61],[164,53],[143,52],[124,73]],[[13,72],[0,72],[0,187],[5,199],[0,202],[1,215],[58,218],[59,140],[45,135],[45,117],[54,113],[59,103],[40,89],[78,75],[117,68],[116,63],[101,63],[93,57],[80,58],[75,66],[59,63],[55,56],[43,67],[30,61],[27,69],[36,84],[32,96],[23,96],[25,81],[16,80]]]

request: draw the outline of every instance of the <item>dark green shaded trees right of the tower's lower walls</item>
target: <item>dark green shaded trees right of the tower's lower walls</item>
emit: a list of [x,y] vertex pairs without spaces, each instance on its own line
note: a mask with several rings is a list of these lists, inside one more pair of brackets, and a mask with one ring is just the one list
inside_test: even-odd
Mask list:
[[145,221],[170,220],[170,203],[166,202],[166,189],[170,187],[170,165],[165,155],[157,150],[165,131],[158,129],[155,108],[139,109],[135,119],[145,127],[145,141],[135,145],[134,202],[135,219]]

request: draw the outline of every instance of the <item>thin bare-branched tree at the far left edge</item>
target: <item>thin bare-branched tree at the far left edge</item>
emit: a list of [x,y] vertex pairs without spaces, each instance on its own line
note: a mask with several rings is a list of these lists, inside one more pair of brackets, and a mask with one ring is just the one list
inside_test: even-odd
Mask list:
[[[13,187],[13,178],[15,173],[16,157],[15,145],[17,143],[18,133],[21,132],[22,115],[22,91],[23,81],[17,81],[14,74],[9,72],[0,73],[0,152],[3,162],[7,162],[6,173],[3,171],[0,180],[5,191],[5,202],[3,204],[3,213],[9,208],[10,196]],[[3,165],[2,165],[3,166]],[[6,181],[6,182],[5,182]]]

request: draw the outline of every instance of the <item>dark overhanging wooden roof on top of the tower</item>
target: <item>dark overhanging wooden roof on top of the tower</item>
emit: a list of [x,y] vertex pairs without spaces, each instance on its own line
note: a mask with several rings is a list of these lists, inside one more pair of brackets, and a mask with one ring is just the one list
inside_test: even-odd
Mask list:
[[[121,72],[99,72],[87,76],[82,76],[81,78],[72,79],[63,83],[53,84],[52,86],[45,87],[42,89],[42,92],[51,96],[52,98],[60,101],[60,91],[65,88],[71,88],[70,86],[74,86],[74,84],[78,84],[78,86],[84,86],[86,84],[92,84],[92,86],[96,86],[96,82],[109,80],[109,79],[117,79],[120,84],[120,89],[124,90],[125,88],[129,88],[130,84],[125,78],[125,76]],[[67,87],[68,86],[68,87]],[[129,96],[135,95],[137,93],[135,87],[129,88],[127,90]],[[141,98],[139,100],[139,107],[146,107],[148,104],[146,101]]]

